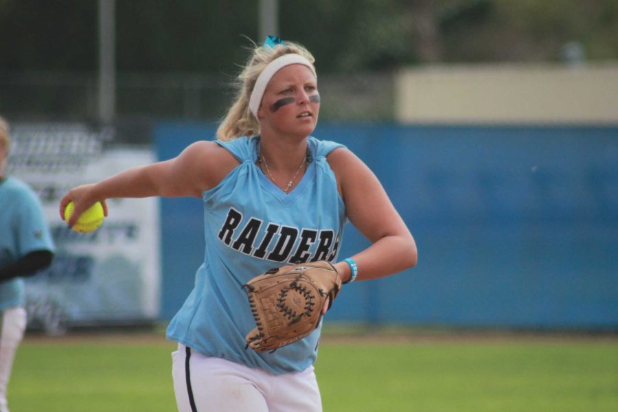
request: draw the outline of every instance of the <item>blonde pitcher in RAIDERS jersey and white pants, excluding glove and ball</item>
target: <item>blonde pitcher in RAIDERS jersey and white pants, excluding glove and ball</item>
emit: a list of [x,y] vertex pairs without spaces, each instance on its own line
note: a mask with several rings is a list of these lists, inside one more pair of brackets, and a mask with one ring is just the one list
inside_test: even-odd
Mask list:
[[[376,176],[341,144],[310,136],[320,108],[313,62],[301,45],[269,37],[240,73],[216,141],[75,187],[60,202],[60,216],[75,203],[72,225],[108,198],[202,199],[204,262],[167,332],[179,343],[172,354],[179,411],[321,411],[312,367],[319,328],[272,353],[246,348],[255,323],[241,286],[255,275],[328,260],[350,283],[416,264],[413,237]],[[347,220],[371,246],[338,262]]]

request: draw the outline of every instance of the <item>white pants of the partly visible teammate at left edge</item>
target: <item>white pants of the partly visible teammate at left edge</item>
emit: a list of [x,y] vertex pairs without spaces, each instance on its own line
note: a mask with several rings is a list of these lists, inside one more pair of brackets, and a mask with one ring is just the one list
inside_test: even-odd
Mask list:
[[8,308],[0,314],[0,412],[8,412],[6,387],[17,346],[23,339],[26,312],[24,308]]

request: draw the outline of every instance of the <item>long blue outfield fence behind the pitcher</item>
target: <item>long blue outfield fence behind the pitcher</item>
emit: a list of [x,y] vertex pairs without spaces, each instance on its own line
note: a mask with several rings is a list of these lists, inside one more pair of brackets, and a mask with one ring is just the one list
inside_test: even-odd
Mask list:
[[[159,159],[215,126],[161,124]],[[618,328],[618,127],[322,124],[374,170],[417,266],[345,287],[328,321]],[[203,259],[199,199],[161,201],[170,319]],[[347,225],[340,258],[368,242]]]

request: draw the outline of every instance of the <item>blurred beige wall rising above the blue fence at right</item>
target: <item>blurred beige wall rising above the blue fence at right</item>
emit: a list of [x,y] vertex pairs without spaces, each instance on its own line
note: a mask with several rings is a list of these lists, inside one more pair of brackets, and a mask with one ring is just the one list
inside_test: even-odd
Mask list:
[[618,64],[404,69],[404,124],[618,124]]

